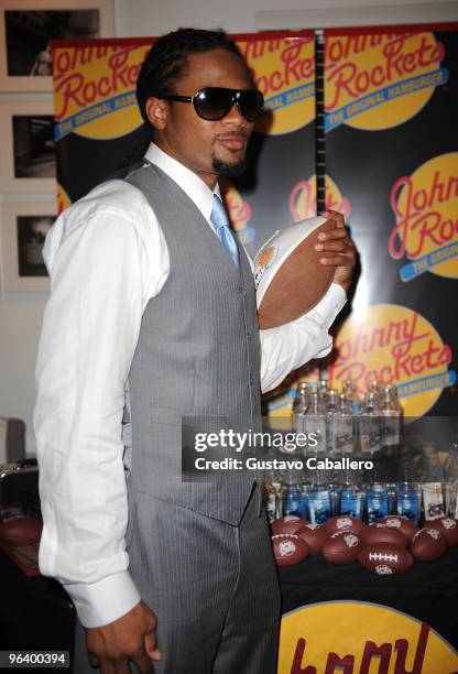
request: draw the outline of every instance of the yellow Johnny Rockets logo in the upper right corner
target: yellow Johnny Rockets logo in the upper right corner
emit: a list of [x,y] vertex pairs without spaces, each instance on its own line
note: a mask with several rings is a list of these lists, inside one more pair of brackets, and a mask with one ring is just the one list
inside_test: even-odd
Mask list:
[[326,130],[389,129],[411,119],[448,80],[433,33],[339,35],[326,40]]

